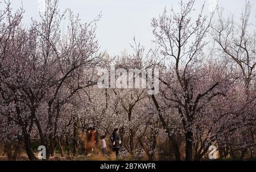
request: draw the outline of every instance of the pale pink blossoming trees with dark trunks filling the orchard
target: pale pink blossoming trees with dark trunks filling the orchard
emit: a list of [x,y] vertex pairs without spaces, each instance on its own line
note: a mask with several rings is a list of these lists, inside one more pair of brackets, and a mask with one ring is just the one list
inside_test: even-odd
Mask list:
[[[58,1],[47,1],[40,21],[22,25],[23,9],[0,11],[1,149],[15,160],[24,147],[47,148],[47,159],[77,156],[84,133],[119,127],[123,156],[201,160],[216,145],[220,158],[255,157],[256,30],[250,3],[241,20],[216,9],[198,17],[194,0],[152,19],[156,49],[134,39],[133,54],[99,53],[96,23],[81,23]],[[214,21],[214,18],[217,18]],[[67,32],[61,32],[63,21]],[[100,89],[97,67],[159,68],[159,94],[147,89]],[[118,74],[119,75],[119,74]]]

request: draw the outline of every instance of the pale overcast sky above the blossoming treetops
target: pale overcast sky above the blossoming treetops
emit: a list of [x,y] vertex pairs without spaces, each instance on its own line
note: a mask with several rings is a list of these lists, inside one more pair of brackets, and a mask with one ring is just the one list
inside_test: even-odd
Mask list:
[[[23,2],[23,8],[26,10],[24,23],[29,23],[31,17],[38,17],[41,1],[43,0],[10,0],[14,8],[21,6]],[[195,8],[200,10],[204,1],[196,0]],[[217,1],[226,12],[237,15],[241,14],[245,4],[243,0],[206,0],[205,12],[209,13]],[[102,11],[97,38],[101,50],[108,50],[110,55],[115,55],[124,49],[129,51],[129,43],[133,41],[134,36],[146,49],[150,49],[151,40],[154,39],[151,19],[158,17],[165,6],[167,9],[173,6],[175,10],[179,10],[179,2],[180,0],[60,0],[59,7],[61,10],[71,8],[74,13],[80,14],[84,22],[94,19]],[[255,5],[255,0],[251,0],[251,4]],[[255,10],[253,14],[255,15]]]

